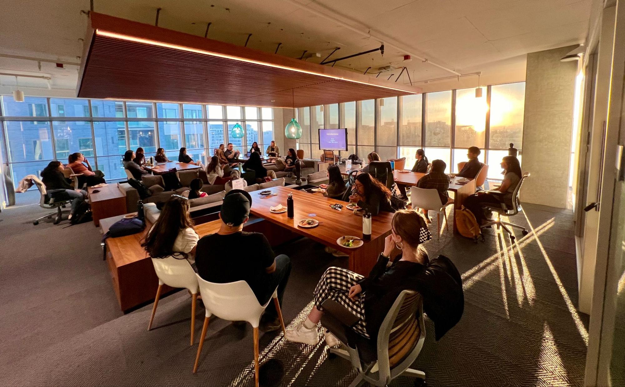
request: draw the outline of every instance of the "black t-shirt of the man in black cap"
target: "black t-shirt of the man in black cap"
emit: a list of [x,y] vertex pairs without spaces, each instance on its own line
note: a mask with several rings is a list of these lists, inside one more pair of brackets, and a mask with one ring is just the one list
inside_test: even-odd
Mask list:
[[[224,251],[228,253],[223,253]],[[276,255],[267,238],[258,232],[206,235],[197,242],[197,274],[208,282],[245,280],[258,298],[264,293]],[[266,301],[266,300],[259,300]]]

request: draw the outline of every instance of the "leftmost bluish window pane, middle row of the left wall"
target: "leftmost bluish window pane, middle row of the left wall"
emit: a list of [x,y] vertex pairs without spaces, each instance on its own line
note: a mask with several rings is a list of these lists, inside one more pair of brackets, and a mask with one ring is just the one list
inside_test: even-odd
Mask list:
[[49,121],[5,121],[11,162],[53,160]]

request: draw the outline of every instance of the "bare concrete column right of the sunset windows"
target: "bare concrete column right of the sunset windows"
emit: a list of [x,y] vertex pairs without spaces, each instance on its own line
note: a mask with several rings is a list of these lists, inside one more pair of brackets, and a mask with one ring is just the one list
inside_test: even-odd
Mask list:
[[566,208],[577,62],[560,62],[576,46],[527,54],[521,201]]

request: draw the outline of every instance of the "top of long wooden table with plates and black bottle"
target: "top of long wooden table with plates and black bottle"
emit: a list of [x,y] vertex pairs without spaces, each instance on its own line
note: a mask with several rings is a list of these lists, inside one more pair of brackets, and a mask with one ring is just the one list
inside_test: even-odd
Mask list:
[[[270,189],[277,196],[262,198],[258,191],[250,192],[252,196],[252,207],[250,212],[257,217],[265,218],[269,222],[276,223],[292,232],[309,237],[326,246],[332,246],[344,252],[351,252],[354,249],[342,248],[336,240],[344,235],[362,237],[362,217],[354,215],[352,210],[343,207],[341,211],[334,210],[329,206],[334,203],[347,205],[345,202],[324,197],[323,195],[309,194],[299,190],[292,190],[286,187],[271,187]],[[294,217],[287,218],[286,212],[272,213],[269,207],[282,204],[286,207],[287,195],[293,194]],[[314,215],[312,215],[314,214]],[[380,212],[379,215],[371,219],[371,240],[375,240],[384,233],[391,230],[392,213]],[[297,227],[297,222],[303,218],[314,218],[319,220],[319,225],[314,228]],[[365,242],[367,243],[367,242]]]

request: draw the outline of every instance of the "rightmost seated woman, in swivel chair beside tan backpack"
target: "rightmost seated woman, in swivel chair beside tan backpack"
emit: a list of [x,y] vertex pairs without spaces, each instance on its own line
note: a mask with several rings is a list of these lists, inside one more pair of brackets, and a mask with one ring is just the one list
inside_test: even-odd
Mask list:
[[464,199],[464,203],[462,203],[467,210],[475,215],[479,225],[488,222],[484,216],[484,210],[482,210],[484,204],[506,203],[508,208],[512,206],[512,194],[514,194],[514,190],[523,176],[521,165],[516,157],[506,156],[501,160],[501,168],[504,170],[502,172],[504,180],[499,187],[489,191],[478,191],[477,194]]

